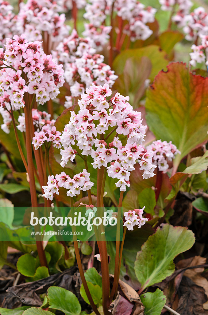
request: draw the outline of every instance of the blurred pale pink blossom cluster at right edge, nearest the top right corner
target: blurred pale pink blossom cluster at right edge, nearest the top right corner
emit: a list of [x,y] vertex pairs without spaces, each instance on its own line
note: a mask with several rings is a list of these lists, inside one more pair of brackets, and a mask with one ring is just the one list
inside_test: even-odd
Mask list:
[[179,27],[183,27],[186,34],[185,38],[189,41],[195,40],[200,35],[207,35],[208,14],[205,9],[199,7],[190,14],[184,14],[180,11],[172,18]]

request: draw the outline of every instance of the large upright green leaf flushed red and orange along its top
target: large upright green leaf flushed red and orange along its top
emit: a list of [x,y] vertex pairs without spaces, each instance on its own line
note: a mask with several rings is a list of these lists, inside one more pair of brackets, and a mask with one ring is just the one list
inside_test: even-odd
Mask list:
[[[157,139],[172,141],[180,160],[208,140],[208,78],[193,75],[186,64],[176,62],[161,71],[147,92],[146,120]],[[159,127],[158,127],[159,126]]]

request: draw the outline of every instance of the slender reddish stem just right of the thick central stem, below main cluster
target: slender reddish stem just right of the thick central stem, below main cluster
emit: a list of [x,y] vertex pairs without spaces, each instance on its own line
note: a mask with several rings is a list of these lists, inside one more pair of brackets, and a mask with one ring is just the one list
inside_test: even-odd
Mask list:
[[116,226],[116,254],[115,254],[115,268],[114,268],[114,279],[113,287],[111,291],[110,301],[112,301],[113,296],[117,294],[116,287],[118,287],[118,263],[119,263],[119,249],[120,249],[120,218],[121,218],[121,207],[123,202],[123,192],[120,192],[119,202],[118,202],[118,216],[117,216],[117,226]]

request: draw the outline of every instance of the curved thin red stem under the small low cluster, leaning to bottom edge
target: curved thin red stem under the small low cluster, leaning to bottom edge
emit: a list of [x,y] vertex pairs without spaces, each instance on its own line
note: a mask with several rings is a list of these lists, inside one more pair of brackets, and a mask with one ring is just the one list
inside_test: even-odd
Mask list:
[[[74,218],[74,201],[73,201],[73,197],[70,197],[70,205],[71,205],[71,214],[72,214],[72,218]],[[78,247],[78,242],[77,242],[77,236],[74,235],[74,232],[76,231],[76,227],[73,225],[72,226],[72,231],[73,231],[73,241],[74,241],[74,250],[75,250],[75,255],[76,255],[76,259],[77,259],[77,265],[78,265],[78,268],[79,268],[79,273],[80,273],[80,277],[81,277],[81,280],[82,280],[82,283],[83,283],[83,286],[84,286],[84,289],[85,289],[85,293],[87,295],[87,298],[90,302],[90,305],[92,306],[92,309],[93,311],[97,314],[97,315],[100,315],[93,299],[92,299],[92,296],[90,294],[90,290],[87,286],[87,282],[86,282],[86,279],[85,279],[85,275],[84,275],[84,271],[83,271],[83,268],[82,268],[82,262],[81,262],[81,258],[80,258],[80,255],[79,255],[79,247]]]

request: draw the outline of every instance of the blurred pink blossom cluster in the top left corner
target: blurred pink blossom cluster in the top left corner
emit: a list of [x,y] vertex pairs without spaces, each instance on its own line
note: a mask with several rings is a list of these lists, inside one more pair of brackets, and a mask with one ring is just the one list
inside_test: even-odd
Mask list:
[[5,38],[12,37],[15,31],[13,6],[9,2],[0,0],[0,45]]

